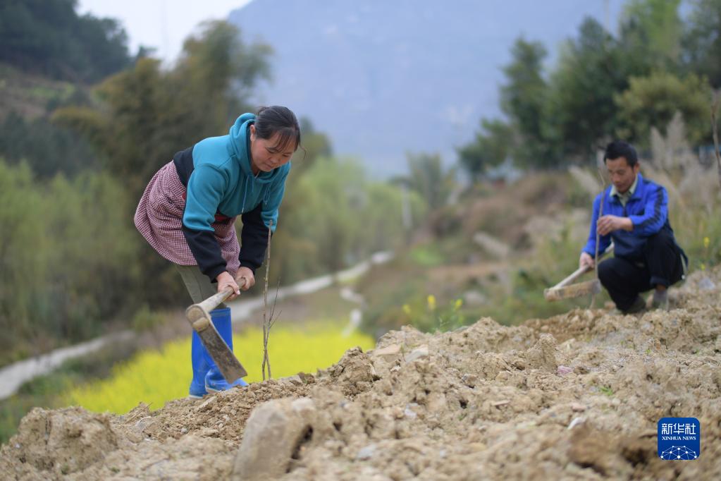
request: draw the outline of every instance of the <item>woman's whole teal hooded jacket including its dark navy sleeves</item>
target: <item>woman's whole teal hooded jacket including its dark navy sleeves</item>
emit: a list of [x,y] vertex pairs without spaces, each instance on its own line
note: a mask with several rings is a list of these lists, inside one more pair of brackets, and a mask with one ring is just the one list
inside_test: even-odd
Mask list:
[[200,271],[211,281],[226,270],[213,222],[242,216],[240,265],[255,269],[265,257],[267,229],[278,224],[278,207],[291,164],[253,175],[248,129],[255,115],[241,115],[226,136],[205,138],[177,152],[173,162],[187,188],[182,231]]

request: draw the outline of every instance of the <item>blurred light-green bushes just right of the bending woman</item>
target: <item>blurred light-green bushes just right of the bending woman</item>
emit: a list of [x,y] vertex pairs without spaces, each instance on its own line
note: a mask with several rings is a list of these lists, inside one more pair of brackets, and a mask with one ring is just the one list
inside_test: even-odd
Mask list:
[[[291,175],[293,175],[291,173]],[[400,187],[366,178],[357,162],[318,159],[286,193],[273,236],[271,276],[283,283],[347,268],[373,252],[392,250],[406,229]],[[425,205],[409,195],[413,225]],[[291,214],[286,216],[286,205]]]

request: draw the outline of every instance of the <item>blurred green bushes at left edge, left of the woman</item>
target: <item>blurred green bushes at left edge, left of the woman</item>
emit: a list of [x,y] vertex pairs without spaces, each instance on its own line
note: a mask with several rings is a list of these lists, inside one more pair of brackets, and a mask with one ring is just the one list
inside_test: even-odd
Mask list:
[[0,160],[4,352],[25,348],[22,340],[84,340],[123,314],[139,273],[130,212],[108,175],[39,181],[27,164]]

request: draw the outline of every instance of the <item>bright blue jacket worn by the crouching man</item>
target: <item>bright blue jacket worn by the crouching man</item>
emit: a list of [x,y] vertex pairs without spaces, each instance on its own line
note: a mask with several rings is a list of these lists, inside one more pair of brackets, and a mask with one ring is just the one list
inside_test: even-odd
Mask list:
[[[664,187],[644,179],[641,174],[637,175],[636,190],[625,207],[615,195],[611,197],[610,186],[603,191],[603,215],[628,217],[633,224],[633,230],[619,229],[599,237],[599,255],[613,240],[615,256],[642,260],[647,237],[657,234],[662,229],[668,229],[673,236],[673,229],[668,223],[668,193]],[[593,217],[590,221],[588,242],[583,247],[583,252],[592,257],[596,254],[596,221],[600,206],[601,194],[593,201]]]

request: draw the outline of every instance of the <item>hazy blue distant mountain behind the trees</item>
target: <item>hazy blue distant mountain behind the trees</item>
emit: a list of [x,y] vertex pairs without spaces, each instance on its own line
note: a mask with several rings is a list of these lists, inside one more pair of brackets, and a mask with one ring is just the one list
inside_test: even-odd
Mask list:
[[[554,58],[583,17],[616,19],[620,0],[254,0],[229,15],[245,41],[275,49],[257,102],[291,107],[371,175],[405,153],[455,162],[482,116],[499,115],[501,68],[523,35]],[[615,25],[616,22],[614,22]]]

